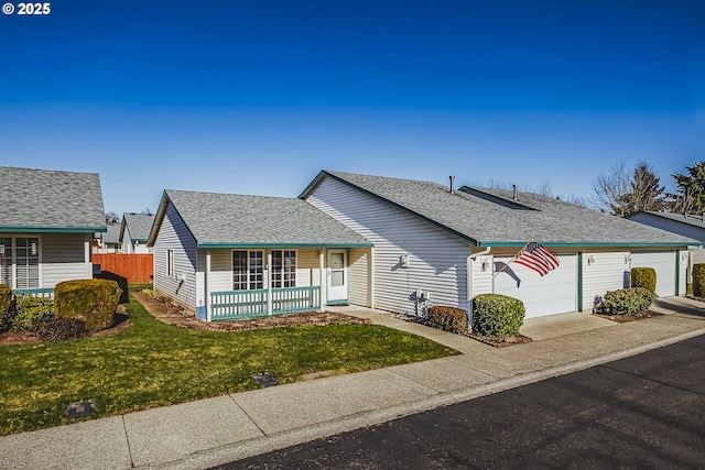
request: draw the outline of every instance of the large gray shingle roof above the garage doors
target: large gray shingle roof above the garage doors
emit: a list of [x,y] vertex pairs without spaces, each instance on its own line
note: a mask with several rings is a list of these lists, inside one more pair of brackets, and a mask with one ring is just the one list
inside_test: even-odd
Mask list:
[[511,192],[464,188],[467,193],[456,190],[451,194],[447,186],[433,182],[329,171],[322,172],[316,181],[325,175],[481,245],[520,244],[529,240],[563,245],[698,243],[631,220],[530,193],[519,194],[518,203],[523,206],[520,207],[512,203]]

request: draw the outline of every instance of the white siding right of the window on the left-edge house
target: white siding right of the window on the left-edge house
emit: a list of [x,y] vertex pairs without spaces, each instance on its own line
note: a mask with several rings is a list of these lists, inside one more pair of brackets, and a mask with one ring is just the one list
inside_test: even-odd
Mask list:
[[86,263],[84,233],[45,233],[41,238],[42,264],[40,278],[42,288],[52,288],[64,281],[93,277],[91,266]]

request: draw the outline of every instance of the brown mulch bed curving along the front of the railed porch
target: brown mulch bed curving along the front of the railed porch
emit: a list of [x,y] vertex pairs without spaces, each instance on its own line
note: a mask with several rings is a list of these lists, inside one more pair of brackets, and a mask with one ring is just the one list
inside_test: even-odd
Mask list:
[[282,328],[299,325],[370,325],[369,318],[359,318],[351,315],[334,311],[302,311],[299,314],[284,314],[271,317],[260,317],[231,321],[203,321],[193,316],[185,316],[178,309],[174,309],[167,302],[151,297],[142,291],[133,289],[132,295],[152,316],[165,324],[182,328],[192,328],[209,331],[249,331],[263,328]]

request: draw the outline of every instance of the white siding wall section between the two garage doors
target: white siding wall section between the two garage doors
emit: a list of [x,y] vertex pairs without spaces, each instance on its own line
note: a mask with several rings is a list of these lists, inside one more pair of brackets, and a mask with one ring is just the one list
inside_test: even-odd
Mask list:
[[608,291],[629,287],[629,252],[583,253],[583,309]]

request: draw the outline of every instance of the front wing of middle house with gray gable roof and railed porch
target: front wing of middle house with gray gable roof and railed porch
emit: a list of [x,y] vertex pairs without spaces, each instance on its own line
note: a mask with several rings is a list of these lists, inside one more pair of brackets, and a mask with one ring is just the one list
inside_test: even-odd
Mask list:
[[154,288],[207,320],[319,309],[368,292],[350,272],[370,272],[372,243],[296,198],[169,189],[148,244]]

